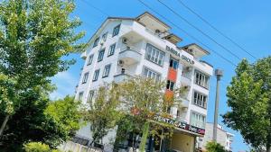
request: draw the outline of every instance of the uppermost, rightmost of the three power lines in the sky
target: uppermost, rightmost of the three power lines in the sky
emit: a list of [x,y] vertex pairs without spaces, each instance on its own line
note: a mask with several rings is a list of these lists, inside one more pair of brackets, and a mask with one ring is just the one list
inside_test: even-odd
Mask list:
[[251,53],[249,53],[248,50],[244,49],[243,47],[241,47],[238,42],[236,42],[235,40],[232,40],[231,38],[229,38],[229,36],[227,36],[226,34],[224,34],[222,31],[220,31],[219,29],[217,29],[215,26],[213,26],[210,22],[208,22],[207,20],[205,20],[199,13],[196,13],[195,11],[192,10],[192,8],[190,8],[188,5],[184,4],[182,2],[182,0],[177,0],[177,2],[179,2],[180,4],[182,4],[182,6],[184,6],[186,9],[188,9],[190,12],[194,13],[196,16],[198,16],[202,22],[205,22],[206,24],[208,24],[210,26],[210,28],[212,28],[214,31],[217,31],[220,33],[220,35],[222,35],[224,38],[226,38],[227,40],[229,40],[230,42],[232,42],[235,46],[237,46],[239,49],[242,49],[243,51],[247,52],[248,55],[252,58],[255,58],[255,56],[253,56]]

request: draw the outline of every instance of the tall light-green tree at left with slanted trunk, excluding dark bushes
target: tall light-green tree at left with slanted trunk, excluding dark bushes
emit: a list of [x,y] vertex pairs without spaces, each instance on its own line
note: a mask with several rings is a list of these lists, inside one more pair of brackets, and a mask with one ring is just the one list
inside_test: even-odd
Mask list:
[[[78,19],[71,19],[73,1],[8,0],[0,4],[0,74],[14,79],[14,95],[5,95],[1,110],[0,136],[6,124],[21,108],[22,94],[35,87],[47,89],[48,79],[66,70],[73,60],[63,60],[83,44],[76,42],[84,35],[75,33]],[[5,87],[5,86],[1,86]],[[5,91],[2,93],[5,94]],[[7,107],[1,107],[7,108]],[[3,117],[4,116],[4,117]]]

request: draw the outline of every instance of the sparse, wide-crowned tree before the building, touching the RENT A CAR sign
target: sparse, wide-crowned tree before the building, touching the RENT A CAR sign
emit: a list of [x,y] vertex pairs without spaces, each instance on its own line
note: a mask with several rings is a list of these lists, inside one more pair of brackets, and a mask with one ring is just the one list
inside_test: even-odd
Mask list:
[[163,138],[168,134],[164,134],[164,130],[172,129],[173,126],[169,124],[159,123],[157,125],[157,123],[151,122],[154,121],[155,115],[170,117],[167,110],[173,105],[175,96],[165,96],[165,83],[151,78],[134,77],[118,86],[121,89],[122,111],[126,115],[118,123],[117,137],[125,139],[129,132],[132,132],[133,136],[134,133],[142,134],[139,150],[145,151],[149,132],[152,133],[152,136],[159,135]]

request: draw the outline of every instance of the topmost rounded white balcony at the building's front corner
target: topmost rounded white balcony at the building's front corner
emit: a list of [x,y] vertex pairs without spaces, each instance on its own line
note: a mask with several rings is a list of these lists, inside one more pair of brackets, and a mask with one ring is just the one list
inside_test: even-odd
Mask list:
[[119,52],[118,60],[121,60],[124,65],[130,66],[140,62],[141,56],[142,55],[138,51],[136,51],[136,49],[126,47],[125,49]]

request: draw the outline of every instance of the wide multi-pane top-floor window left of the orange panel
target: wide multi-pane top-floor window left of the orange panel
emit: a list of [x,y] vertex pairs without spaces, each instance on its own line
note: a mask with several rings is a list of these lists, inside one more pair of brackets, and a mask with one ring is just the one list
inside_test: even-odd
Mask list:
[[149,61],[152,61],[159,66],[163,66],[164,63],[164,52],[156,49],[153,45],[146,45],[146,56],[145,58]]

